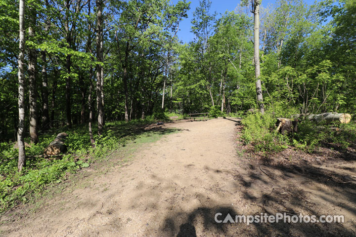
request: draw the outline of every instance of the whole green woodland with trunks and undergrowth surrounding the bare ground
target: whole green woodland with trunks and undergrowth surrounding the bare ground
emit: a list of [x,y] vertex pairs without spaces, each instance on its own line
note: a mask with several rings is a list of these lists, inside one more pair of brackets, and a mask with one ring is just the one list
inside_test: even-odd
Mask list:
[[[354,118],[356,0],[260,3],[218,15],[200,0],[195,38],[183,43],[185,0],[0,0],[0,211],[168,116],[244,114],[241,139],[263,153],[354,146],[354,121],[306,120],[288,135],[274,125],[296,114]],[[68,152],[44,157],[61,132]]]

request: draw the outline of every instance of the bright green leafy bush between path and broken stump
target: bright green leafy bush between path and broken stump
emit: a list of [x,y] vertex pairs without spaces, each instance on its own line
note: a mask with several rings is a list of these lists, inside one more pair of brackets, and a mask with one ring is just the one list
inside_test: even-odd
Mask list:
[[288,138],[279,134],[274,128],[275,118],[266,113],[247,115],[242,119],[242,140],[252,144],[255,151],[277,152],[287,148]]

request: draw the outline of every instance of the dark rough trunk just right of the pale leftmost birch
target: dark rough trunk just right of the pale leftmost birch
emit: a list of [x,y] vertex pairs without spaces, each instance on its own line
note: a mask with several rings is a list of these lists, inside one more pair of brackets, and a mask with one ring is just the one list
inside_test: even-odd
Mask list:
[[[36,26],[36,10],[30,9],[30,26],[29,26],[29,38],[31,40],[35,37],[35,26]],[[37,127],[37,84],[36,84],[36,65],[37,65],[37,52],[33,47],[28,49],[28,74],[30,81],[30,137],[31,143],[38,143],[38,127]]]

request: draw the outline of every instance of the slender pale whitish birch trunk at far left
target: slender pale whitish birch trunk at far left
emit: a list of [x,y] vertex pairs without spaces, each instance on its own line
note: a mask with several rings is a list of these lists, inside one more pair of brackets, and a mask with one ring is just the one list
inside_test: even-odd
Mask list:
[[23,65],[25,58],[25,32],[24,26],[25,15],[25,0],[19,2],[19,57],[18,57],[18,107],[19,107],[19,123],[17,129],[17,143],[19,147],[17,169],[21,172],[26,165],[26,153],[24,142],[24,128],[25,128],[25,79],[23,74]]

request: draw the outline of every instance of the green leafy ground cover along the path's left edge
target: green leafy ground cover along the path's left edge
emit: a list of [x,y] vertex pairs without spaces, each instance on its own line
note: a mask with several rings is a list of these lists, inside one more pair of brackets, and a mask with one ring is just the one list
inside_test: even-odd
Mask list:
[[[92,162],[109,160],[115,151],[130,141],[137,144],[155,142],[162,135],[177,132],[176,129],[145,130],[144,127],[152,122],[152,118],[107,122],[103,135],[94,135],[95,148],[91,148],[86,124],[52,130],[40,135],[38,144],[26,147],[26,167],[21,173],[17,172],[18,150],[13,148],[14,144],[0,143],[0,212],[40,197],[49,184],[62,182],[64,176],[89,167]],[[61,158],[34,157],[42,155],[59,132],[68,134],[65,142],[68,152]],[[93,132],[96,132],[96,127],[93,127]],[[29,142],[28,139],[26,141]],[[127,157],[125,159],[128,160]]]

